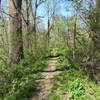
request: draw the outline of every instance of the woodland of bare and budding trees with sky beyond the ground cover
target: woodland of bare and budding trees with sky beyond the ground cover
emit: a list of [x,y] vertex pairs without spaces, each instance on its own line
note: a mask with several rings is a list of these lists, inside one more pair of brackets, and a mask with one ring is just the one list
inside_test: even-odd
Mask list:
[[[61,14],[63,5],[71,15]],[[0,0],[0,64],[38,59],[58,45],[100,81],[100,0]]]

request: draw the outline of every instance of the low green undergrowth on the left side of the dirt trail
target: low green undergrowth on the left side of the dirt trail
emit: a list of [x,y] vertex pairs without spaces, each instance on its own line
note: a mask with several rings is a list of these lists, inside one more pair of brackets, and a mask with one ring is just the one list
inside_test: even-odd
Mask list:
[[[45,57],[25,58],[12,67],[0,62],[0,100],[29,100],[36,89],[35,80],[46,66]],[[35,73],[37,71],[37,73]]]

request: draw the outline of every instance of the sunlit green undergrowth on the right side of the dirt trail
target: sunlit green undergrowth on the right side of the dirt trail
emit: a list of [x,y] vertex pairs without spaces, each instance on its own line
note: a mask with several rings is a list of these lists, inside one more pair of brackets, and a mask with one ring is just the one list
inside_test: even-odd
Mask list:
[[59,56],[57,68],[65,70],[54,78],[49,100],[100,100],[99,84],[89,79],[67,57]]

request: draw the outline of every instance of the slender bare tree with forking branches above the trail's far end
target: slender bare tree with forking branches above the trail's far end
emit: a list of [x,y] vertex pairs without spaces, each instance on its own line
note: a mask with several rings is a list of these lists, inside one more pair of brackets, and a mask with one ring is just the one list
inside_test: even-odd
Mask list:
[[51,31],[54,29],[54,16],[56,12],[57,5],[59,3],[59,0],[48,0],[47,1],[47,33],[46,33],[46,39],[47,39],[47,46],[49,47],[50,44],[50,35]]

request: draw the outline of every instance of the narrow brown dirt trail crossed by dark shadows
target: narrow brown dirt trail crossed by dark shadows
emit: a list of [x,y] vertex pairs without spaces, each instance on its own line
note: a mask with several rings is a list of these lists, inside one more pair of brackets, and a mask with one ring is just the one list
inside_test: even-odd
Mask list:
[[34,94],[31,100],[48,100],[48,95],[50,94],[52,88],[52,79],[58,72],[55,72],[57,63],[57,57],[50,59],[48,66],[42,73],[42,78],[37,80],[37,92]]

